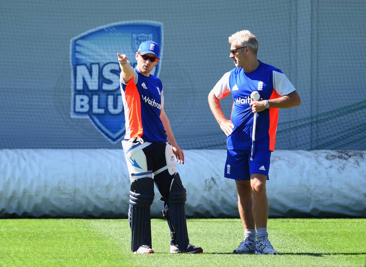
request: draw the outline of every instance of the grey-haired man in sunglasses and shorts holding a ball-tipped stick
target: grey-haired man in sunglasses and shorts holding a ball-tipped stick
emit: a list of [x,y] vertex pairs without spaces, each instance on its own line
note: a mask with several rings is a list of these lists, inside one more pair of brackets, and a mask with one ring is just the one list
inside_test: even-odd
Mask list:
[[[217,82],[208,102],[227,136],[224,176],[234,179],[238,190],[244,240],[233,253],[277,254],[268,240],[266,180],[275,149],[278,109],[300,105],[301,100],[281,70],[257,59],[258,41],[253,33],[238,31],[229,43],[235,68]],[[231,119],[226,119],[220,99],[229,93],[234,104]]]

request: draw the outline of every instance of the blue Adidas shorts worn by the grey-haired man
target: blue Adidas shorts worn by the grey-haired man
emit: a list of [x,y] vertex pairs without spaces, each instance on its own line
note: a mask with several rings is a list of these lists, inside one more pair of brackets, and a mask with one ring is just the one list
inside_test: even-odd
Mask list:
[[271,151],[257,149],[253,161],[250,160],[250,150],[227,150],[225,163],[225,178],[235,180],[250,180],[250,175],[259,173],[268,177]]

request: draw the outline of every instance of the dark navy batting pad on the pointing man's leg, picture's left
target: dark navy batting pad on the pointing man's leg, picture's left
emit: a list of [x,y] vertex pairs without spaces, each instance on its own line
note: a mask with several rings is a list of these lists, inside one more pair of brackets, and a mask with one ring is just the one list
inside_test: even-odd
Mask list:
[[131,183],[128,221],[131,227],[131,251],[151,244],[150,206],[154,200],[154,180],[139,178]]

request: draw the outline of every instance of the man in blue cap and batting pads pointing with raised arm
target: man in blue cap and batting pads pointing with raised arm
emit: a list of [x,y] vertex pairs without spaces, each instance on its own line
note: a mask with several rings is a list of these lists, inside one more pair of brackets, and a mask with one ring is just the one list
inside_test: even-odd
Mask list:
[[156,42],[142,42],[135,53],[135,68],[126,55],[117,54],[126,119],[122,147],[131,180],[128,210],[131,251],[154,253],[150,206],[155,183],[164,201],[163,216],[171,231],[170,253],[201,253],[202,248],[189,243],[184,206],[186,189],[175,171],[175,161],[184,164],[184,153],[164,112],[163,84],[150,74],[159,62],[159,52]]

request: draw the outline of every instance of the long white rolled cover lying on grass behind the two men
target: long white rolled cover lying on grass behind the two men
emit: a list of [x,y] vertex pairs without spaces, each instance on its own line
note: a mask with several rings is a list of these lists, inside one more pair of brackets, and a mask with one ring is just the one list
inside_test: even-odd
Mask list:
[[[238,217],[225,150],[186,150],[187,216]],[[365,151],[275,151],[269,215],[366,217]],[[130,179],[118,149],[0,150],[0,217],[127,218]],[[161,218],[155,189],[152,216]]]

